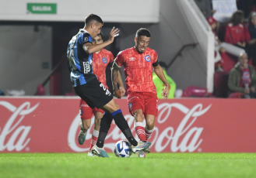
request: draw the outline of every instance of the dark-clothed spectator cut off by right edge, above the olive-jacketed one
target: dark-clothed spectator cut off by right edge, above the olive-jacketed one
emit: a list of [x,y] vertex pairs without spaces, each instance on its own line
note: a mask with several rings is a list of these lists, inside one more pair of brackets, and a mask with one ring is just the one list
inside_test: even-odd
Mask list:
[[249,56],[252,57],[252,64],[256,67],[256,12],[251,12],[249,17],[248,31],[251,36],[249,44]]

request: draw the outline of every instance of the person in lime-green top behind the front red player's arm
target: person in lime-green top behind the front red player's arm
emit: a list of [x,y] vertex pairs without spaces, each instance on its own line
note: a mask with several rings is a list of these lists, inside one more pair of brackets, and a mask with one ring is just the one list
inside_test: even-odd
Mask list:
[[[167,64],[162,61],[160,61],[159,64],[160,64],[160,67],[162,67],[162,69],[163,69],[163,74],[167,78],[168,84],[170,84],[170,91],[169,91],[168,98],[174,98],[174,93],[176,90],[176,83],[167,74]],[[153,82],[156,85],[157,98],[162,99],[163,98],[162,93],[163,93],[163,89],[165,88],[165,85],[163,84],[163,81],[159,77],[157,77],[156,73],[153,73]]]

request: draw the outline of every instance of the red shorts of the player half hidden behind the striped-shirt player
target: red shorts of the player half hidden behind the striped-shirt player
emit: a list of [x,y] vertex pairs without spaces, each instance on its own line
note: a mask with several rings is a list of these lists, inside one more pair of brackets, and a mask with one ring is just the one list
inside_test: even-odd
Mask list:
[[80,117],[82,120],[91,119],[93,118],[93,114],[96,112],[101,112],[104,114],[104,111],[99,108],[89,108],[89,105],[86,104],[86,101],[80,99]]

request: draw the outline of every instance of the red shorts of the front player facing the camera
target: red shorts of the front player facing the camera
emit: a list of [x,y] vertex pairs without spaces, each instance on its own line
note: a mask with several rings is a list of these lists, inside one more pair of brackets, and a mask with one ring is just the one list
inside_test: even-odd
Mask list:
[[132,92],[127,97],[128,108],[133,115],[134,111],[142,109],[144,115],[155,115],[157,116],[157,95],[150,92]]

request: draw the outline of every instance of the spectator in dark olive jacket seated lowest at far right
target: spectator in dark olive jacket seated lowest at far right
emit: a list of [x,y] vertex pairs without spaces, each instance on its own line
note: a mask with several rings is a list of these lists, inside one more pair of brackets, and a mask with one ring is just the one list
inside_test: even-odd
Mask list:
[[248,65],[247,53],[238,58],[238,63],[230,71],[228,87],[229,98],[256,98],[256,73],[254,67]]

